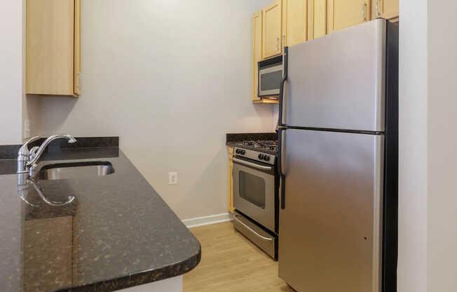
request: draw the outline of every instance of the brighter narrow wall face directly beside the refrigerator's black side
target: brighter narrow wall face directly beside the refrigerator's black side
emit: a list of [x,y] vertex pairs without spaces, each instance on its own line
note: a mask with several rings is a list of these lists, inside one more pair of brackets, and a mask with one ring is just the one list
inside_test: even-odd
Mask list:
[[399,292],[427,291],[427,30],[427,0],[401,0]]

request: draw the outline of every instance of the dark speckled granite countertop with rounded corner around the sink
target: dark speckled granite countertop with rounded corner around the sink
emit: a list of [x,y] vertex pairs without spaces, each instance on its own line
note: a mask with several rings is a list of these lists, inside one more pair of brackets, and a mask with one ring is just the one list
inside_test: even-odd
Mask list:
[[[198,240],[118,147],[49,152],[37,170],[74,161],[104,161],[114,173],[21,191],[16,161],[0,160],[1,291],[116,291],[198,265]],[[37,190],[58,204],[74,199],[50,206]]]

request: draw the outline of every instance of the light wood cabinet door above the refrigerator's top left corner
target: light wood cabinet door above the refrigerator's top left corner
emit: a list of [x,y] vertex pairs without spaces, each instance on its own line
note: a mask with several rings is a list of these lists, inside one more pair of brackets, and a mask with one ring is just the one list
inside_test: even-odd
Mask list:
[[286,2],[285,44],[294,46],[308,39],[308,0],[284,1]]

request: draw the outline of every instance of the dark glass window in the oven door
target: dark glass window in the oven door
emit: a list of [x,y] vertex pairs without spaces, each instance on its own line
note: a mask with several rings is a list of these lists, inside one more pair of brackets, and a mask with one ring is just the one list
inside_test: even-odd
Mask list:
[[240,197],[260,208],[265,208],[265,180],[244,171],[240,171],[239,174]]

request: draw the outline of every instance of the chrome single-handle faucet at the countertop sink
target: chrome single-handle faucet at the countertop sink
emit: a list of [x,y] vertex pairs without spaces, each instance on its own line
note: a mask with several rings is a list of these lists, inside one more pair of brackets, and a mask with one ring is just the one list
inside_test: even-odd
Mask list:
[[36,136],[25,142],[18,152],[18,185],[26,185],[27,178],[33,176],[34,168],[36,167],[36,161],[43,154],[46,146],[55,139],[64,138],[69,141],[69,143],[76,142],[76,139],[71,135],[52,135],[46,139],[40,147],[33,147],[29,151],[29,143],[32,143],[36,140],[39,140],[43,137]]

